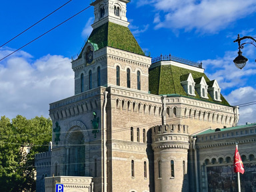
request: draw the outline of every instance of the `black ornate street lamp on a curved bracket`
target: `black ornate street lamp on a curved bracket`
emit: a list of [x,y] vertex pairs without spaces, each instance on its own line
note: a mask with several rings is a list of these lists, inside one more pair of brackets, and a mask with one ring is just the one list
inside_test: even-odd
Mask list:
[[[245,42],[245,43],[241,44],[241,41],[243,39],[251,39],[252,41],[251,42]],[[237,35],[237,39],[234,41],[234,43],[235,42],[238,43],[239,51],[237,52],[238,56],[233,60],[233,62],[235,62],[235,66],[237,68],[242,69],[245,66],[248,58],[246,58],[245,56],[242,55],[241,49],[243,48],[243,45],[245,45],[245,44],[254,45],[253,43],[256,43],[256,40],[253,37],[251,37],[251,36],[240,37],[240,35],[238,34]],[[256,47],[256,45],[254,45],[254,47]],[[256,60],[255,60],[255,62],[256,62]]]

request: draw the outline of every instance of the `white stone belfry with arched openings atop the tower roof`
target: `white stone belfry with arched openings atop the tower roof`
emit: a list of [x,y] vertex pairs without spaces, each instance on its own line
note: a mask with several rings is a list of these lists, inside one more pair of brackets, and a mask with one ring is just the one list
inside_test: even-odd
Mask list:
[[111,22],[118,25],[128,27],[126,17],[126,4],[129,0],[97,0],[91,3],[94,6],[95,20],[93,22],[93,29],[103,25],[104,23]]

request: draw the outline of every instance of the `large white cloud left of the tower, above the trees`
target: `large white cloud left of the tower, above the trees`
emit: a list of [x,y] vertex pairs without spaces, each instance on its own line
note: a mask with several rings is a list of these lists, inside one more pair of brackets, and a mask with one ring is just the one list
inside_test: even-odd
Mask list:
[[[0,55],[8,50],[1,48]],[[31,58],[27,52],[17,52],[0,62],[0,116],[49,117],[49,103],[73,95],[69,58],[49,54]]]

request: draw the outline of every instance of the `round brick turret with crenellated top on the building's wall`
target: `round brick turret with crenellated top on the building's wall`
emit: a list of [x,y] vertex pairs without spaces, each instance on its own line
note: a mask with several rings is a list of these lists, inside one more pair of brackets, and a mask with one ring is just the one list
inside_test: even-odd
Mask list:
[[188,126],[167,124],[152,128],[155,191],[189,191],[187,152]]

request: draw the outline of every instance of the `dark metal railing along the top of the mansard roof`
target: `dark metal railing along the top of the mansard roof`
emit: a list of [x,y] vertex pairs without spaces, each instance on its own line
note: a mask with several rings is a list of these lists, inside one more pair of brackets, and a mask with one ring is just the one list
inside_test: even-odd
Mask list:
[[155,62],[159,62],[159,61],[162,61],[162,60],[173,60],[175,62],[180,62],[182,64],[187,64],[187,65],[190,65],[190,66],[195,66],[195,67],[198,67],[198,68],[202,68],[202,62],[199,63],[199,62],[194,62],[194,61],[191,61],[191,60],[187,60],[185,58],[179,58],[177,56],[173,56],[171,54],[169,55],[162,55],[161,56],[157,56],[155,58],[152,58],[152,64],[155,63]]

